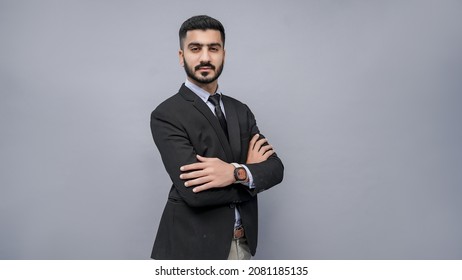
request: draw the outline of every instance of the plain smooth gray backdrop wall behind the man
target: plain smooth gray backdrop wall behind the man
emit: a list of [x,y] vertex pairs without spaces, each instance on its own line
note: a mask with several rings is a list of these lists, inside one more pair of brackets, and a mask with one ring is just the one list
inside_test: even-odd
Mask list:
[[149,258],[196,14],[286,167],[257,259],[462,258],[461,1],[287,0],[1,0],[0,258]]

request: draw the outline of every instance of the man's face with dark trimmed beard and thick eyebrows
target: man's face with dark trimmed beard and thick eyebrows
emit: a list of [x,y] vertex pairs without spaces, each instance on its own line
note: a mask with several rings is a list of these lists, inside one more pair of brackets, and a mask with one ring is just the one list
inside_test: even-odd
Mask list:
[[188,31],[179,56],[180,64],[192,82],[209,84],[216,81],[223,71],[225,61],[220,31]]

